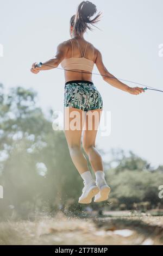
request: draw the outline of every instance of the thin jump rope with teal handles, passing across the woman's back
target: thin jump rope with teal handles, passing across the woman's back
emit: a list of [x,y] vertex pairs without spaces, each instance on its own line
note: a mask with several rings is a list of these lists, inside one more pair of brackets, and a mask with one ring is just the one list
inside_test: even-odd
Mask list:
[[[35,65],[35,68],[36,68],[36,67],[41,68],[42,65],[49,66],[49,67],[51,67],[51,68],[55,68],[54,66],[51,66],[51,65],[48,65],[48,64],[43,64],[42,62],[37,63],[37,64]],[[85,73],[85,74],[92,74],[92,75],[100,75],[100,76],[106,76],[106,77],[110,77],[110,78],[115,78],[115,77],[111,77],[111,76],[107,76],[107,75],[101,75],[101,74],[97,74],[97,73],[90,73],[90,72],[84,72],[84,71],[80,72],[80,71],[74,71],[74,70],[69,70],[69,69],[61,69],[61,68],[55,68],[55,69],[66,70],[66,71],[71,71],[71,72],[78,72],[78,73]],[[133,82],[133,81],[128,81],[128,80],[124,80],[124,79],[121,79],[121,78],[118,78],[118,79],[121,80],[121,81],[124,81],[124,82],[134,83],[134,84],[137,84],[137,85],[139,85],[139,86],[145,86],[145,88],[143,88],[144,91],[146,91],[146,90],[155,90],[156,92],[161,92],[161,93],[163,93],[162,90],[159,90],[159,89],[156,89],[156,88],[153,88],[153,87],[150,87],[150,86],[147,87],[145,84],[136,83],[136,82]]]

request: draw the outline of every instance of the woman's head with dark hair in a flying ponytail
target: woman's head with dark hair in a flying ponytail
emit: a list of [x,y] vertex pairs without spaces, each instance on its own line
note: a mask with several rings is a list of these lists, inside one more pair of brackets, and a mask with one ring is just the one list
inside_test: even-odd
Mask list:
[[89,1],[83,1],[78,5],[77,14],[71,17],[70,25],[76,30],[78,35],[83,33],[86,28],[92,31],[90,25],[95,26],[94,24],[99,22],[101,17],[101,13],[99,12],[98,15],[91,20],[90,18],[96,13],[97,8],[95,4]]

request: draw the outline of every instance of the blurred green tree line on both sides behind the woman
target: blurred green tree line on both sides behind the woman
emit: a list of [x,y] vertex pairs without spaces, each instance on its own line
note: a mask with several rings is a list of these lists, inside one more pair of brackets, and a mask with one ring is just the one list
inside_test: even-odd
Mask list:
[[[0,84],[0,90],[0,185],[4,187],[0,218],[82,210],[78,197],[83,181],[72,163],[64,131],[52,129],[54,120],[43,114],[32,89],[17,87],[5,93]],[[135,209],[142,202],[154,208],[161,203],[162,166],[154,170],[131,151],[116,149],[105,163],[108,166],[106,178],[114,202],[108,209]],[[91,206],[100,210],[103,203]]]

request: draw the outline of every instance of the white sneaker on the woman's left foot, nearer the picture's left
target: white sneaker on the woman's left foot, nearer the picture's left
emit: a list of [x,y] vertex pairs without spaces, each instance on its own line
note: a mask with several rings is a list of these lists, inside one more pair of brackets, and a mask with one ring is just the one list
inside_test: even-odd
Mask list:
[[96,185],[96,182],[91,182],[90,184],[85,184],[82,190],[82,196],[79,197],[80,204],[90,204],[92,202],[92,198],[99,192],[99,188]]

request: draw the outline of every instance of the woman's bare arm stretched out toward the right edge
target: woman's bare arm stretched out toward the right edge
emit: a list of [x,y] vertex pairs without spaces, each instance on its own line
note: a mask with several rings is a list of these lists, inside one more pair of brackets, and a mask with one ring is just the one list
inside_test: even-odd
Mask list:
[[96,66],[105,82],[111,84],[111,86],[114,86],[130,94],[139,95],[140,93],[145,92],[143,88],[140,88],[140,87],[132,88],[127,86],[127,84],[122,83],[114,75],[110,74],[103,63],[101,52],[97,49],[96,51],[97,51]]

